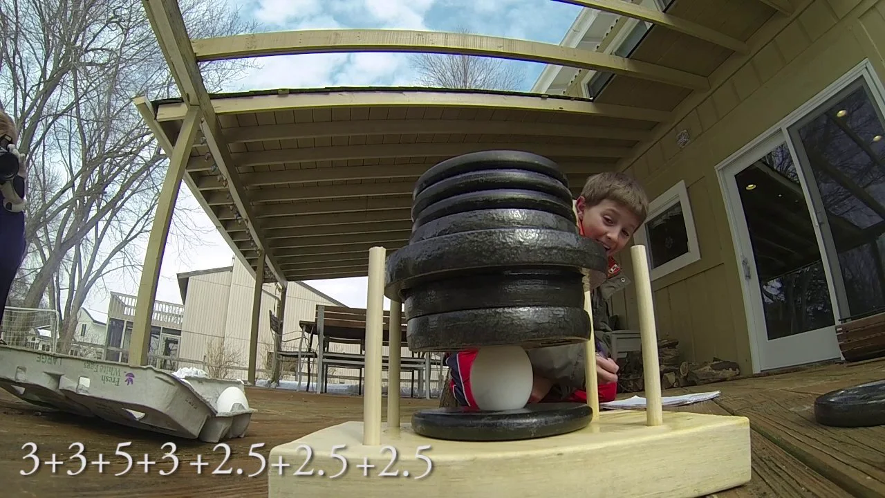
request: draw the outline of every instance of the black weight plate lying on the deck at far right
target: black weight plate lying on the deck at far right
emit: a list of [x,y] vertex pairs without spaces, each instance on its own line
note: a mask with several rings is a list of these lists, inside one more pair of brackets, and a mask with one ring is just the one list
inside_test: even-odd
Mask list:
[[885,379],[821,395],[814,401],[814,418],[833,427],[885,425]]

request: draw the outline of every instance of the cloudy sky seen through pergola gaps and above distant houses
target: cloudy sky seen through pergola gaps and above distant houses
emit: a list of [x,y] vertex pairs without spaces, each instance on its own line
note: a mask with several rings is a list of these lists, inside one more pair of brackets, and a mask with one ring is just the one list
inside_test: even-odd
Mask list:
[[[241,13],[258,23],[258,31],[328,28],[389,28],[454,31],[466,28],[479,35],[497,35],[545,43],[560,43],[580,7],[551,0],[258,0],[239,5]],[[327,86],[415,85],[408,54],[357,53],[280,56],[258,59],[255,69],[227,90],[310,88]],[[518,62],[523,90],[532,87],[543,65]],[[179,204],[196,207],[182,186]],[[158,285],[158,300],[181,303],[176,275],[229,266],[233,253],[204,214],[183,217],[201,231],[195,237],[170,234]],[[191,253],[190,256],[187,253]],[[135,295],[138,276],[114,278],[99,286],[87,307],[104,316],[107,290]],[[366,306],[366,278],[310,281],[345,305]]]

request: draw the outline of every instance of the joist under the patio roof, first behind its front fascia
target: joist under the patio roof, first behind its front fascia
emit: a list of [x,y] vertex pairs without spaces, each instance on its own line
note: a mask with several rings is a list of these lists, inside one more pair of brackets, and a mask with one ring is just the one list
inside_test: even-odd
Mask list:
[[257,125],[227,128],[224,130],[224,136],[229,144],[243,144],[293,138],[404,135],[415,133],[416,129],[427,134],[574,136],[637,142],[650,138],[650,132],[635,128],[603,128],[562,123],[543,123],[543,126],[538,126],[538,123],[524,121],[476,120],[327,121]]

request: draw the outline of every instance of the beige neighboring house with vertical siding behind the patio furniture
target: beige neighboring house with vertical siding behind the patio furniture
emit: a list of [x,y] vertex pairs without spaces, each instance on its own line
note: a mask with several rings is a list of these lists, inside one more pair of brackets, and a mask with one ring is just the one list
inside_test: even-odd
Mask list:
[[[234,364],[233,375],[246,378],[255,279],[240,261],[178,275],[184,322],[181,358],[210,364]],[[280,292],[277,284],[265,284],[258,322],[257,370],[269,370],[273,352],[270,312],[277,315]],[[318,304],[345,306],[303,282],[289,282],[283,323],[283,349],[295,350],[301,338],[301,321],[313,321]],[[304,350],[307,344],[302,345]],[[316,347],[316,344],[313,344]],[[358,349],[348,350],[358,353]],[[338,348],[333,348],[338,349]],[[343,351],[343,349],[342,349]],[[261,377],[261,376],[258,376]]]

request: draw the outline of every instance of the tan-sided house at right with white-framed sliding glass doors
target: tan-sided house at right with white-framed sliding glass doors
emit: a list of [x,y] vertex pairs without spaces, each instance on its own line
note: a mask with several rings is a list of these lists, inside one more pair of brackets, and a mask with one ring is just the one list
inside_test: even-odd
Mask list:
[[[836,360],[838,325],[885,328],[885,1],[778,2],[787,15],[728,4],[741,4],[735,19],[716,22],[742,26],[732,35],[747,53],[698,48],[681,66],[709,74],[709,90],[683,101],[681,89],[627,91],[626,78],[559,66],[533,90],[673,113],[617,169],[650,196],[634,240],[649,251],[658,335],[678,339],[683,360],[743,374]],[[562,44],[592,47],[611,29],[600,51],[676,66],[672,32],[606,16],[583,10]],[[632,274],[629,253],[619,260]],[[635,288],[612,313],[638,328]]]

